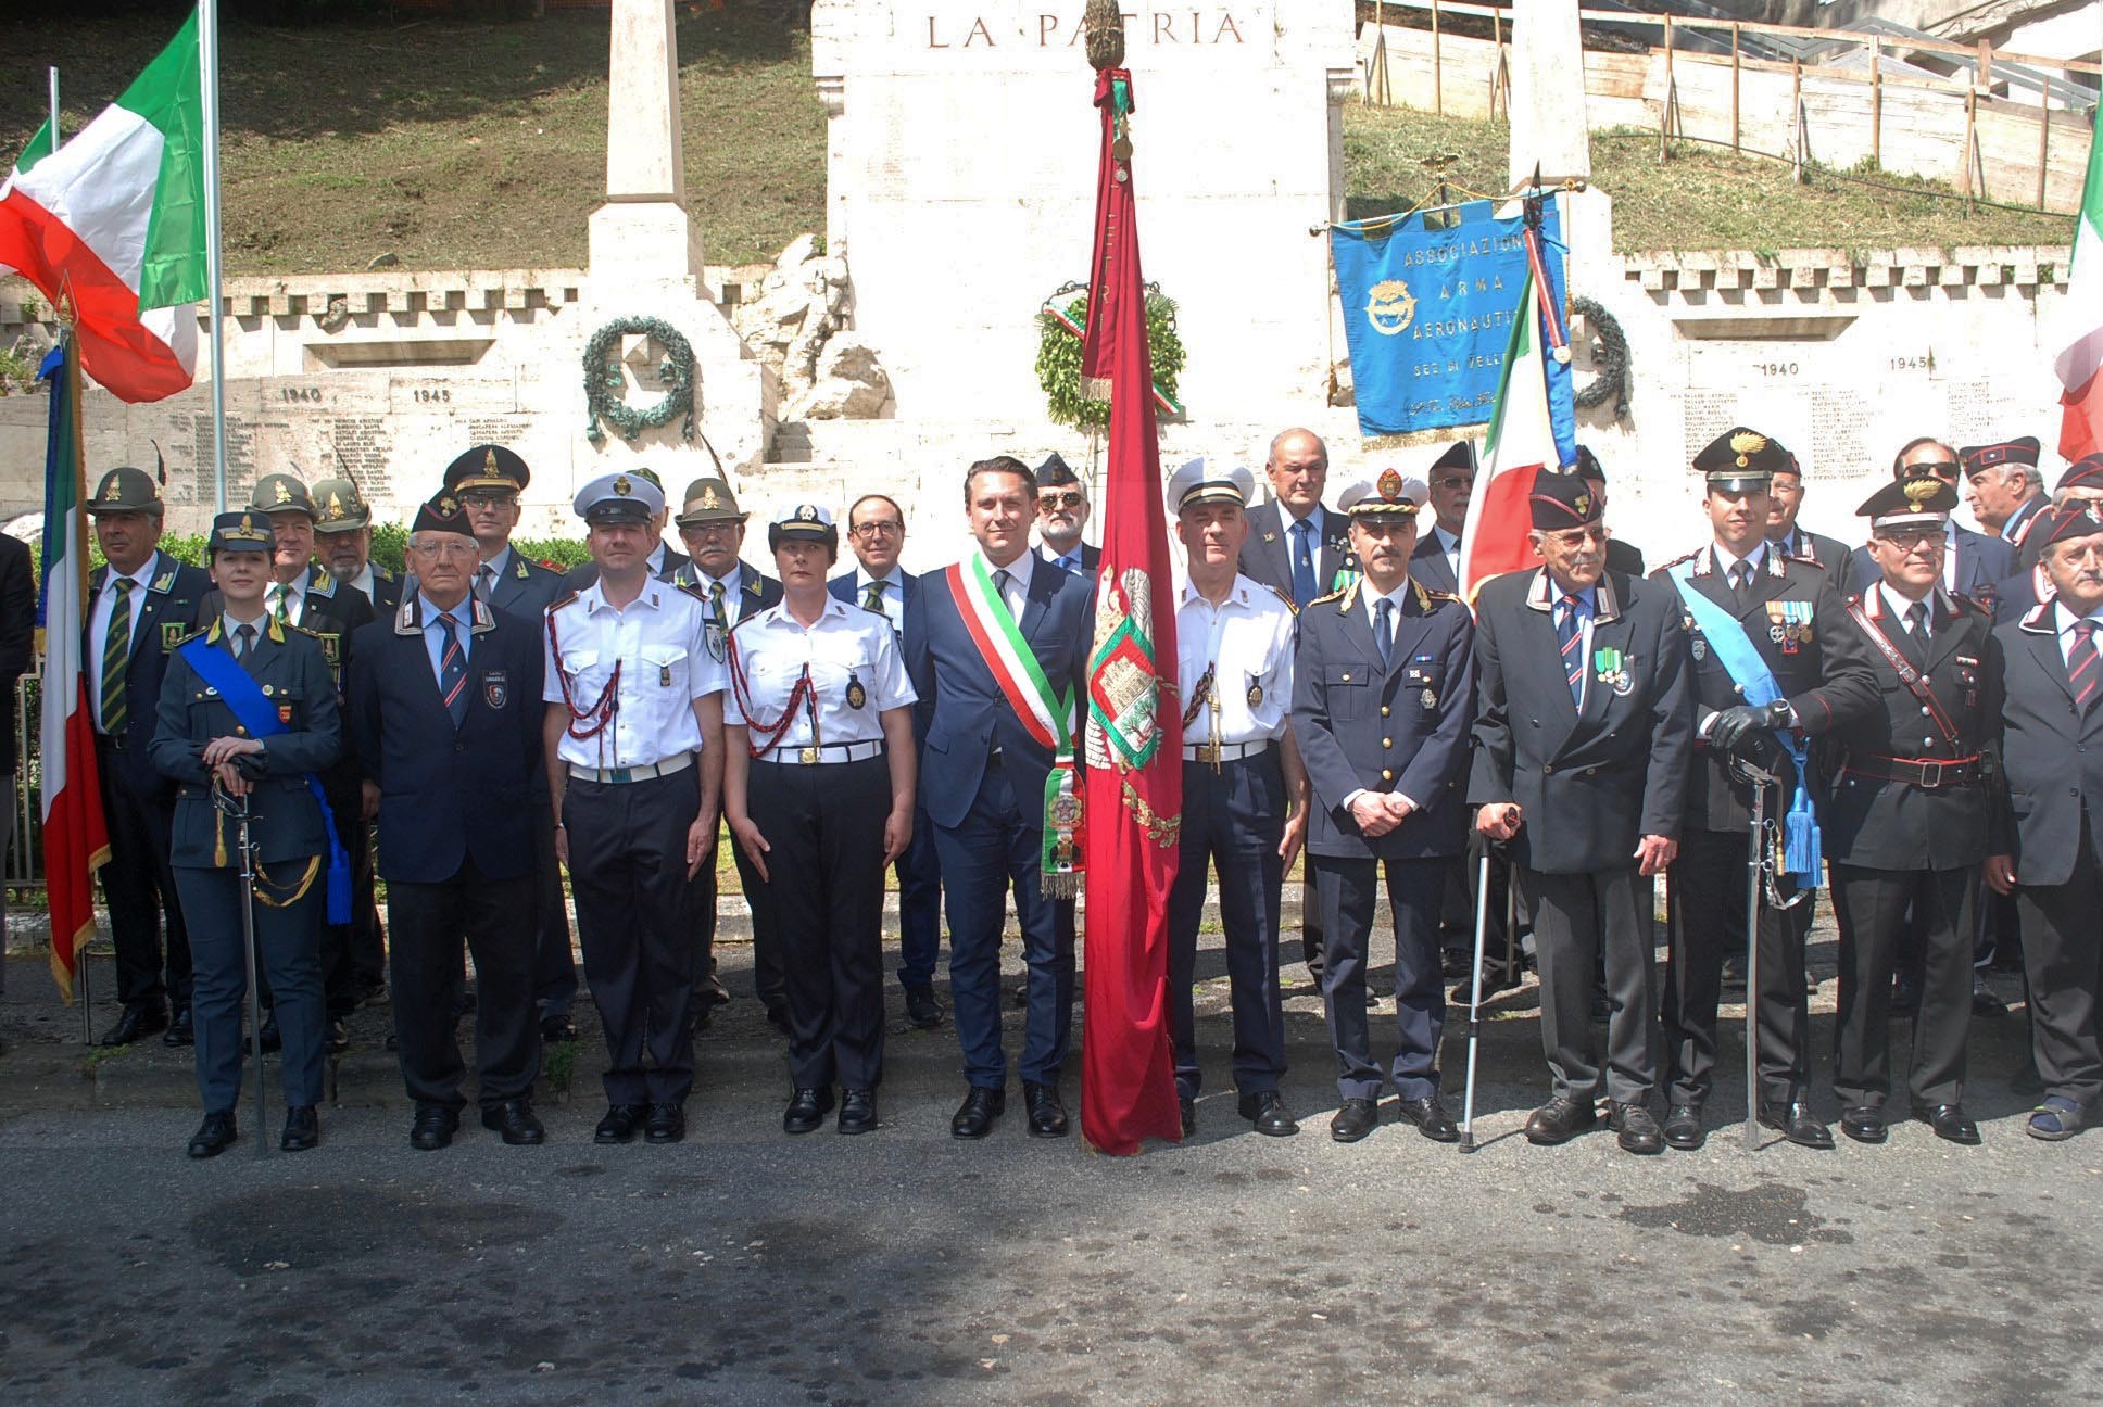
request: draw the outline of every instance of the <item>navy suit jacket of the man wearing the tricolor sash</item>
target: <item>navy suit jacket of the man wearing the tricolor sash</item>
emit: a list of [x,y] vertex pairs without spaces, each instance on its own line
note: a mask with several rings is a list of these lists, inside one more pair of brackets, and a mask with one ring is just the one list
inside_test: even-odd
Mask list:
[[[1096,585],[1039,562],[1016,623],[1054,692],[1073,690],[1075,711],[1087,700],[1087,654],[1094,648]],[[1001,749],[1024,814],[1043,806],[1052,749],[1039,745],[986,669],[963,623],[948,572],[930,572],[906,601],[906,673],[919,692],[915,717],[925,736],[919,795],[938,827],[963,824],[986,757]],[[1068,719],[1073,721],[1073,719]]]

